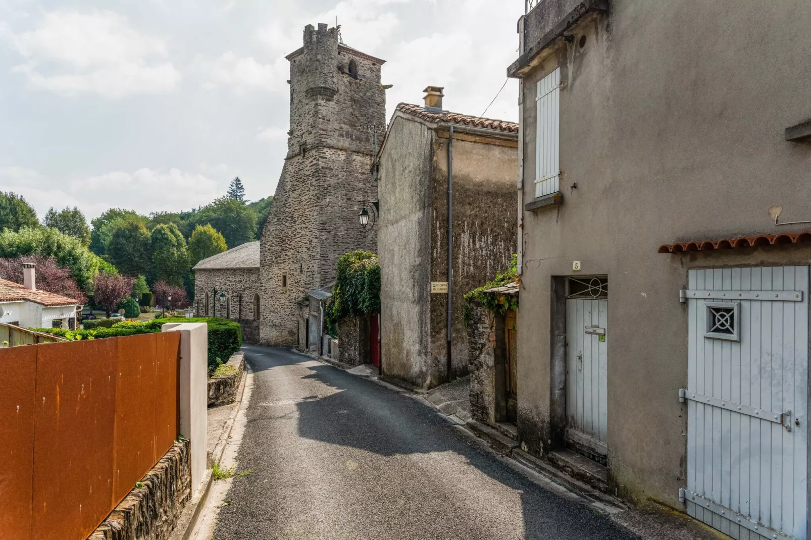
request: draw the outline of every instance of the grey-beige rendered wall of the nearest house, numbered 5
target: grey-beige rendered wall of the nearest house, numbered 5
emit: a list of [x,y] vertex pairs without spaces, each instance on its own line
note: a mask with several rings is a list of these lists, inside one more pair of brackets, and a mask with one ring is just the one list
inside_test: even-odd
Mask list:
[[[660,244],[808,229],[808,144],[783,129],[811,115],[809,2],[615,0],[611,14],[527,79],[524,202],[534,196],[535,82],[561,67],[564,204],[524,218],[518,422],[548,428],[551,276],[607,274],[608,447],[632,499],[679,506],[684,486],[688,268],[809,264],[800,246],[660,255]],[[586,35],[586,46],[577,45]],[[572,189],[577,182],[577,189]]]

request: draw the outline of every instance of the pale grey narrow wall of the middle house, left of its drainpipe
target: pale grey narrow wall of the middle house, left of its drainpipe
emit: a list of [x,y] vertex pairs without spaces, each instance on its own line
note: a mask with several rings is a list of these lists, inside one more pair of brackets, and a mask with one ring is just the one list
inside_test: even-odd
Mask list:
[[380,358],[383,373],[427,378],[431,130],[395,118],[380,156]]

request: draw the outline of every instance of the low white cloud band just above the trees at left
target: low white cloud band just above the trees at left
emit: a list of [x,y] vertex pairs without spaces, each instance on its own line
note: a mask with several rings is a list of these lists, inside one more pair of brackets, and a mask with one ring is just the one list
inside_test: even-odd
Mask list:
[[144,214],[195,208],[225,193],[225,184],[174,168],[71,178],[52,178],[19,166],[0,168],[0,191],[23,195],[39,216],[44,216],[51,206],[79,206],[88,220],[112,207]]

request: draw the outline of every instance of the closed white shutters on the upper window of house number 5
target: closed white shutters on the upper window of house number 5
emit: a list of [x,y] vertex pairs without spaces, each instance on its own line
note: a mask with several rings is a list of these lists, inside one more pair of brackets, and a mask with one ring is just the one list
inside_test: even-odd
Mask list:
[[535,196],[560,191],[560,67],[538,82]]

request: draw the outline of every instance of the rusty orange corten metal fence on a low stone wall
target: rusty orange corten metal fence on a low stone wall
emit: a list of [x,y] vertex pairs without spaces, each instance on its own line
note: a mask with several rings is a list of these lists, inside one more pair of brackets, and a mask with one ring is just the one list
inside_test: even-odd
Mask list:
[[0,537],[83,540],[178,438],[180,332],[0,349]]

